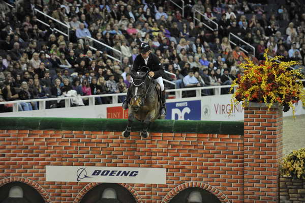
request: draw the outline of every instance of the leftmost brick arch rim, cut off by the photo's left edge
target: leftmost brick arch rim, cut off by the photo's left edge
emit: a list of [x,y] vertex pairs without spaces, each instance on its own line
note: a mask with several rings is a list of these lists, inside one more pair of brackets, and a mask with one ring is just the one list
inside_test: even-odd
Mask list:
[[0,187],[5,185],[5,184],[11,183],[11,182],[25,183],[25,184],[35,188],[37,190],[37,192],[45,200],[45,202],[51,202],[51,199],[50,199],[48,193],[45,191],[45,189],[43,187],[41,187],[35,181],[32,181],[31,179],[22,178],[22,177],[10,177],[10,178],[6,178],[6,179],[2,179],[2,180],[0,180]]

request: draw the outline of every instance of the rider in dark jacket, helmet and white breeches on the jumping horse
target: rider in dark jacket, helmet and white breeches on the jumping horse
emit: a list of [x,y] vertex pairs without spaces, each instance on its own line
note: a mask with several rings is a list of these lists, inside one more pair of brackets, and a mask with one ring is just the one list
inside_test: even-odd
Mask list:
[[[150,46],[147,42],[142,42],[139,47],[139,52],[136,56],[132,67],[132,75],[136,75],[137,72],[143,67],[146,66],[149,68],[150,72],[148,75],[155,79],[156,82],[160,84],[162,95],[162,106],[161,106],[161,115],[166,114],[165,108],[165,88],[163,84],[162,74],[164,73],[164,69],[161,66],[160,60],[158,56],[154,53],[150,52]],[[127,97],[123,102],[123,108],[126,110],[128,108],[129,101],[131,99],[131,88],[128,89]]]

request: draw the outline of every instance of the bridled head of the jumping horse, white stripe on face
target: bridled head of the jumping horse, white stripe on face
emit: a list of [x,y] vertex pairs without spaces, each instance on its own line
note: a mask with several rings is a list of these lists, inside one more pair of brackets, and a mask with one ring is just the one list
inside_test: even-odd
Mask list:
[[140,72],[132,81],[133,85],[131,89],[132,98],[130,101],[130,107],[133,108],[134,111],[138,111],[144,104],[147,82],[149,81],[146,72]]

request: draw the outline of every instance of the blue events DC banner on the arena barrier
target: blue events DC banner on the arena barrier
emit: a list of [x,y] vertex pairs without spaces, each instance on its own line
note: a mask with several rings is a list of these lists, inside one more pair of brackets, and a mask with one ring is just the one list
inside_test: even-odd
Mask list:
[[201,120],[201,100],[166,103],[168,120]]

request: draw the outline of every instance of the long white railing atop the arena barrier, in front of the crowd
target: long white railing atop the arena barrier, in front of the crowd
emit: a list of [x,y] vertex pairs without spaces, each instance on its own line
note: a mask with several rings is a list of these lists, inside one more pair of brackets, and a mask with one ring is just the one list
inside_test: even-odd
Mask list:
[[[199,88],[181,88],[181,89],[173,89],[173,90],[166,90],[166,92],[175,92],[175,99],[182,98],[182,91],[194,91],[196,90],[196,97],[201,97],[202,90],[209,90],[209,89],[218,89],[219,91],[217,95],[220,95],[221,88],[230,88],[231,85],[219,85],[219,86],[206,86],[206,87],[199,87]],[[65,108],[71,107],[71,99],[75,98],[88,98],[89,106],[95,105],[95,98],[96,97],[112,97],[112,103],[117,104],[118,96],[124,96],[126,93],[118,93],[118,94],[105,94],[105,95],[89,95],[89,96],[77,96],[77,97],[56,97],[56,98],[48,98],[48,99],[31,99],[31,100],[16,100],[16,101],[6,101],[0,102],[1,104],[13,104],[13,112],[18,112],[18,104],[21,102],[39,102],[39,110],[46,109],[46,101],[59,101],[65,100]],[[1,115],[1,113],[0,113]]]

